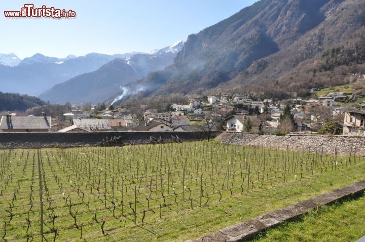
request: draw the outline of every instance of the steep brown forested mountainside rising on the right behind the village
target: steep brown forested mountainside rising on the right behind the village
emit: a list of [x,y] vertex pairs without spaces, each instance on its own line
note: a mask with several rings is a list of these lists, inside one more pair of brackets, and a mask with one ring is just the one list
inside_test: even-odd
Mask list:
[[306,96],[365,72],[364,25],[363,0],[261,0],[189,35],[171,66],[125,88],[136,97]]

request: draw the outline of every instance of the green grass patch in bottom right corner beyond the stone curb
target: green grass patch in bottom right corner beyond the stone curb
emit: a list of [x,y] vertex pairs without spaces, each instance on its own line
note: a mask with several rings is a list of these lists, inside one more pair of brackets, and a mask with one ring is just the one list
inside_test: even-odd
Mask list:
[[324,206],[260,234],[253,241],[356,241],[365,236],[365,196]]

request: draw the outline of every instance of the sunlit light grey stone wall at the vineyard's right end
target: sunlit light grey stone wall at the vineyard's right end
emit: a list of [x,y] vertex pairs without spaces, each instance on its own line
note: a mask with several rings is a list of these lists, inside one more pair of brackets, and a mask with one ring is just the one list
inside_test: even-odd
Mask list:
[[257,135],[247,133],[222,133],[217,137],[223,143],[265,146],[279,149],[312,151],[318,150],[323,153],[334,153],[335,148],[338,154],[349,154],[355,151],[358,155],[365,155],[365,137],[348,136],[325,136],[325,135]]

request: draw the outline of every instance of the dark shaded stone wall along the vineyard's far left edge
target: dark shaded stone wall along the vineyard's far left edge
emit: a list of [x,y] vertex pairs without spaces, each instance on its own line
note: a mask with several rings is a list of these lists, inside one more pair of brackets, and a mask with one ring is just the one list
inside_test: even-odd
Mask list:
[[[211,132],[216,137],[221,132]],[[71,132],[71,133],[0,133],[0,149],[45,148],[99,145],[106,138],[120,137],[119,145],[151,143],[151,138],[172,142],[176,136],[180,141],[194,141],[207,138],[205,132]],[[173,136],[173,137],[172,137]]]

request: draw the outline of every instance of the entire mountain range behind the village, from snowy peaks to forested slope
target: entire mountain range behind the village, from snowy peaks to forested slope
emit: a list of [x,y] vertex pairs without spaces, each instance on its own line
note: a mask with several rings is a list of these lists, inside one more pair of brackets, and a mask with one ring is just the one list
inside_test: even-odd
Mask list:
[[0,55],[0,79],[2,91],[52,103],[222,92],[304,97],[365,73],[364,26],[363,0],[261,0],[149,54]]

